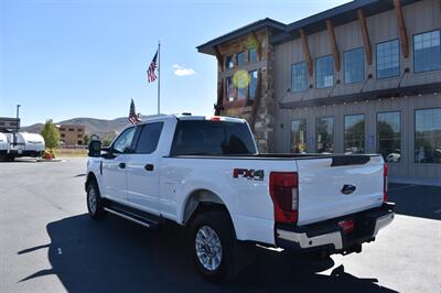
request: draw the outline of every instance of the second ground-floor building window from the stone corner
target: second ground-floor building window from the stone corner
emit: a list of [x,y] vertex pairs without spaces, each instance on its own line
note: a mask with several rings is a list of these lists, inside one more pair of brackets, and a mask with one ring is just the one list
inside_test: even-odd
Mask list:
[[318,153],[334,152],[334,118],[325,117],[315,120],[315,149]]

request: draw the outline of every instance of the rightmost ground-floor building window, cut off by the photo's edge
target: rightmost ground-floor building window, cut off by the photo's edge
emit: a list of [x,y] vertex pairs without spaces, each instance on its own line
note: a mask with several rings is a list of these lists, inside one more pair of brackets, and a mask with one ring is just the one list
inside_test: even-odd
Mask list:
[[441,164],[441,108],[415,111],[415,162]]

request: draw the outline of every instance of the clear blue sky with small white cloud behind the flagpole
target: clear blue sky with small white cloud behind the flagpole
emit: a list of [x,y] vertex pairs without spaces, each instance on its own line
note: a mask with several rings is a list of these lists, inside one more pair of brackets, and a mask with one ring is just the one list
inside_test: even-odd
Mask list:
[[195,46],[259,19],[290,23],[347,1],[0,0],[0,116],[22,124],[157,111],[146,69],[161,40],[161,112],[213,113],[216,61]]

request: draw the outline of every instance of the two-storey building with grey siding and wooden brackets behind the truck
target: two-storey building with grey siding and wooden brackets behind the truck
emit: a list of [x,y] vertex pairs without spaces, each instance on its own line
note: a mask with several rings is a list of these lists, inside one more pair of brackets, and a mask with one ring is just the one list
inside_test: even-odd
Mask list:
[[[266,62],[249,68],[232,44],[259,33]],[[261,151],[381,153],[395,180],[441,184],[440,40],[439,0],[357,0],[287,25],[266,19],[198,51],[224,65],[233,55],[233,72],[218,66],[217,112],[248,119]],[[251,69],[266,73],[260,98],[227,86]],[[249,105],[261,115],[250,119]]]

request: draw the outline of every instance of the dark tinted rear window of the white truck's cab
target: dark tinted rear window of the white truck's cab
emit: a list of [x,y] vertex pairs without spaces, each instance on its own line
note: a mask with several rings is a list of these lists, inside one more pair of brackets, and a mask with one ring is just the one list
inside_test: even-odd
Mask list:
[[171,155],[256,154],[246,123],[187,120],[179,121]]

